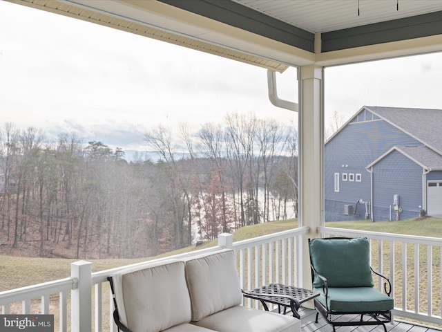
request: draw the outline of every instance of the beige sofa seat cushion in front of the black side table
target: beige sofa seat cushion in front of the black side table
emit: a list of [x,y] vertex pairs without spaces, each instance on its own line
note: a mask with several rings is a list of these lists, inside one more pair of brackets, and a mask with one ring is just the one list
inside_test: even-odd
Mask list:
[[233,306],[193,324],[218,332],[301,331],[300,320],[295,317],[244,306]]

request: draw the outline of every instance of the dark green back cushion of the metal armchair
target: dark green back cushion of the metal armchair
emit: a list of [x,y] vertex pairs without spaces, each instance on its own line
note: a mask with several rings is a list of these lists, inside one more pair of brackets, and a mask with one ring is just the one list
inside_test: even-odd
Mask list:
[[[329,287],[374,286],[368,239],[311,239],[309,249],[311,264],[327,278]],[[314,278],[314,287],[322,284]]]

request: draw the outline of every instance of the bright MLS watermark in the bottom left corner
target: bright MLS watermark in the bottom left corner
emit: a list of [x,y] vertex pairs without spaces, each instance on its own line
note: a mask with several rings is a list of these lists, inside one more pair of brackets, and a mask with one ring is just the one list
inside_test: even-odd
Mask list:
[[0,315],[1,332],[54,332],[54,315]]

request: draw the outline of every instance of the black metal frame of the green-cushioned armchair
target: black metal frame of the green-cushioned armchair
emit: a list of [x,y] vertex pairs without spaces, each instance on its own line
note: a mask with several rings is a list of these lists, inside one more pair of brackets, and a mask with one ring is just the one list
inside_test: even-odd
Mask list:
[[[328,237],[324,239],[349,239],[345,237]],[[310,243],[310,239],[309,239]],[[314,277],[317,276],[321,279],[323,282],[323,294],[325,295],[325,304],[324,306],[317,298],[314,299],[315,309],[316,309],[316,320],[315,323],[318,323],[318,317],[319,314],[323,315],[324,319],[327,321],[328,324],[332,325],[333,331],[336,332],[335,326],[359,326],[359,325],[382,325],[384,328],[384,331],[387,332],[387,327],[385,326],[385,323],[392,322],[392,312],[391,310],[387,311],[332,311],[328,308],[328,291],[329,287],[327,285],[327,278],[323,275],[320,275],[316,272],[314,269],[313,264],[311,263],[311,256],[310,256],[310,267],[311,267],[311,280],[314,280]],[[381,273],[378,273],[373,270],[373,268],[370,266],[370,269],[372,270],[372,273],[375,275],[378,275],[379,277],[383,278],[384,284],[383,288],[385,291],[385,294],[387,296],[390,296],[390,293],[392,291],[392,284],[390,283],[390,278],[386,277],[385,275],[381,275]],[[361,315],[360,320],[349,320],[349,321],[342,321],[337,320],[338,317],[341,316],[348,316],[348,315]],[[364,320],[364,317],[369,317],[369,319],[372,320]],[[336,317],[336,318],[335,318]],[[334,320],[336,319],[336,320]]]

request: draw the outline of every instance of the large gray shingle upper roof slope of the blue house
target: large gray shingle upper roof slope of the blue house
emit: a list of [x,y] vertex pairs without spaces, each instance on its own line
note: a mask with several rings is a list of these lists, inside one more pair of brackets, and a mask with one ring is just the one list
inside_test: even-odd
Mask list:
[[365,109],[442,154],[442,110],[371,107]]

